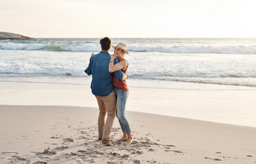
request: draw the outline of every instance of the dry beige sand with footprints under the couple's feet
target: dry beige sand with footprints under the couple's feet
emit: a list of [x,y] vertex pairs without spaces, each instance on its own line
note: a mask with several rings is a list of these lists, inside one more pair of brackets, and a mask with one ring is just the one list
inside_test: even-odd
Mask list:
[[97,140],[97,108],[0,106],[0,163],[256,163],[256,129],[127,111],[134,141]]

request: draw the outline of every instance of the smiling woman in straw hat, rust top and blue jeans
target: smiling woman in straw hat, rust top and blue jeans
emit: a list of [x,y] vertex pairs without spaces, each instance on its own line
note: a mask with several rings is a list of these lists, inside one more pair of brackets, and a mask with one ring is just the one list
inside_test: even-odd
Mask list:
[[[126,50],[126,44],[123,42],[118,43],[116,46],[112,46],[114,49],[114,54],[110,55],[110,66],[109,71],[115,72],[116,70],[122,70],[126,74],[128,69],[128,61],[124,58],[125,54],[129,54]],[[119,62],[114,64],[114,58],[118,58]],[[115,75],[113,75],[113,84],[116,90],[116,115],[120,126],[123,131],[123,138],[118,139],[118,141],[126,141],[125,144],[129,145],[133,141],[131,137],[131,129],[127,119],[125,118],[125,105],[129,95],[129,88],[127,86],[126,80],[118,82]]]

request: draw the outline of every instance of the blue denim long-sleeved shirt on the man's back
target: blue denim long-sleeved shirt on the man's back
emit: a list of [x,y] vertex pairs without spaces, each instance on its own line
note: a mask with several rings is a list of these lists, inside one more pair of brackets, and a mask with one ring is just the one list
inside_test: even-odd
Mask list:
[[[118,59],[114,59],[114,64],[118,63]],[[95,96],[107,96],[114,90],[113,77],[108,71],[110,65],[110,53],[101,51],[100,53],[90,57],[89,66],[84,70],[88,75],[92,74],[92,83],[90,88]],[[125,75],[122,70],[114,72],[118,81],[122,81]]]

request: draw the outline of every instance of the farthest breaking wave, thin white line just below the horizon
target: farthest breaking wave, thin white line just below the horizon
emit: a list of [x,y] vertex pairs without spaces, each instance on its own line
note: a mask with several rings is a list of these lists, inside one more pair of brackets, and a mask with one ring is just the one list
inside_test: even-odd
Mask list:
[[[41,51],[101,51],[99,44],[35,44],[1,42],[3,50],[41,50]],[[133,52],[160,52],[160,53],[220,53],[220,54],[256,54],[256,45],[166,45],[166,46],[127,46],[128,51]]]

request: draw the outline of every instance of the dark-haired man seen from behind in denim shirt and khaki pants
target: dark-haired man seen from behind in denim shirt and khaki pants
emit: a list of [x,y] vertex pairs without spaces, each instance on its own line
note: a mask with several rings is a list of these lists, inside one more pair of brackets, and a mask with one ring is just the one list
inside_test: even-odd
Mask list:
[[[84,70],[88,75],[92,74],[91,89],[92,94],[97,98],[99,105],[99,140],[102,140],[107,146],[111,146],[110,131],[116,117],[116,93],[114,92],[112,73],[108,71],[110,64],[110,38],[103,38],[100,41],[101,52],[90,57],[89,66]],[[118,59],[114,59],[114,64],[118,63]],[[122,70],[114,72],[118,81],[127,79]],[[105,122],[105,115],[107,120]]]

